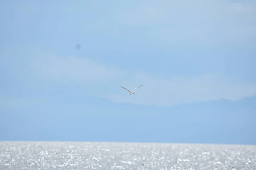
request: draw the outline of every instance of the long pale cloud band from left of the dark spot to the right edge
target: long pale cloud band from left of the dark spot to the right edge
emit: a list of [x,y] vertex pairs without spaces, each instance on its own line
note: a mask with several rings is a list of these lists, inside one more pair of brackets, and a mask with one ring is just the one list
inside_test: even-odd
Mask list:
[[[244,84],[235,77],[205,74],[197,77],[157,77],[143,71],[112,68],[87,58],[40,57],[33,59],[32,72],[51,84],[76,87],[79,93],[102,96],[113,102],[143,105],[176,105],[225,98],[242,99],[256,94],[256,84]],[[119,85],[142,88],[130,96]]]

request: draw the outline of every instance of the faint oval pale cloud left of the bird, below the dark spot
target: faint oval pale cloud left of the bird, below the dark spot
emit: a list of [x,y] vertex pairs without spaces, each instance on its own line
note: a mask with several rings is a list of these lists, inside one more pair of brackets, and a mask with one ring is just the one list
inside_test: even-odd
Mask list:
[[41,55],[31,64],[41,78],[63,83],[104,83],[118,75],[114,69],[82,57]]

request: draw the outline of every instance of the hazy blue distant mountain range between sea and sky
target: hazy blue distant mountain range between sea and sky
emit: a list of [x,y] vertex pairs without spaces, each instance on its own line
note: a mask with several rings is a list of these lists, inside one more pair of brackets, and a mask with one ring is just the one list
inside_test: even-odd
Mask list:
[[256,144],[256,96],[157,107],[69,95],[0,111],[0,140]]

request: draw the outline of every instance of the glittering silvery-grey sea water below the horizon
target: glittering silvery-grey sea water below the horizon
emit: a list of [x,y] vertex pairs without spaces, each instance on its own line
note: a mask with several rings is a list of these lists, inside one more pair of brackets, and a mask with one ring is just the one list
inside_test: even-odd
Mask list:
[[0,142],[0,170],[256,170],[256,146]]

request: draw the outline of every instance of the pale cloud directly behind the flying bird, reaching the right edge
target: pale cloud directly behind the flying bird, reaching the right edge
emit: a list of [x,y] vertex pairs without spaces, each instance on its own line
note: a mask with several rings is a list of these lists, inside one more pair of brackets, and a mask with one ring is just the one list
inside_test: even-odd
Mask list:
[[256,84],[236,82],[219,75],[202,75],[198,77],[159,79],[147,74],[140,74],[130,79],[137,83],[127,83],[133,89],[143,84],[134,96],[128,95],[123,89],[115,94],[105,94],[114,102],[130,102],[143,105],[176,105],[180,103],[201,102],[213,99],[238,100],[256,94]]

